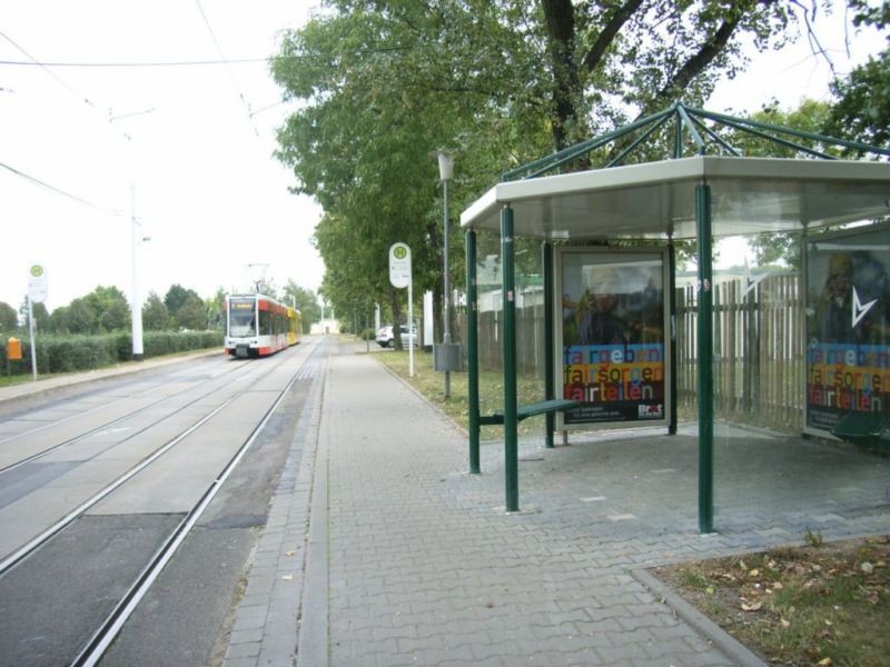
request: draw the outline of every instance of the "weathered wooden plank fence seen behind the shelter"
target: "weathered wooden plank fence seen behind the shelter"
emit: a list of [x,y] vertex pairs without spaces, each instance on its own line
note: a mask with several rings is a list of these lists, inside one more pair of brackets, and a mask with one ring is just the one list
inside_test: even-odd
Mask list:
[[[681,419],[696,419],[696,293],[678,288],[678,401]],[[479,313],[479,366],[502,368],[501,312]],[[803,414],[803,302],[793,273],[769,275],[751,290],[743,280],[714,288],[714,415],[784,432],[800,432]],[[455,340],[464,340],[457,318]],[[521,375],[544,377],[544,308],[516,309],[516,364]],[[543,389],[542,389],[543,390]]]

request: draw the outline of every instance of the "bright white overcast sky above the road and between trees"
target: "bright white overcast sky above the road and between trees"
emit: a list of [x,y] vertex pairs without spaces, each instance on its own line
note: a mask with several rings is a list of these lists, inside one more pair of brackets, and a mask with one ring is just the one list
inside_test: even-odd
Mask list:
[[[0,301],[21,305],[32,263],[47,270],[50,310],[99,285],[129,299],[134,209],[150,237],[141,300],[174,283],[202,297],[245,290],[263,271],[278,287],[316,289],[324,267],[309,238],[320,211],[288,192],[293,176],[271,157],[293,107],[280,103],[261,61],[277,51],[279,31],[316,6],[0,0]],[[837,20],[820,36],[841,72],[882,46],[873,33],[860,37],[848,58]],[[754,56],[708,108],[756,110],[772,97],[791,108],[803,96],[828,99],[828,79],[801,42]]]

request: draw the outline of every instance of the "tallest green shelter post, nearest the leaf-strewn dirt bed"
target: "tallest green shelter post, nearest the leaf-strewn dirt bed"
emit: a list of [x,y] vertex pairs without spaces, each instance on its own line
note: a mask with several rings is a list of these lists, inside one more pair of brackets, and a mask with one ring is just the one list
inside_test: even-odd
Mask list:
[[699,531],[714,531],[714,340],[711,188],[695,187],[699,233]]

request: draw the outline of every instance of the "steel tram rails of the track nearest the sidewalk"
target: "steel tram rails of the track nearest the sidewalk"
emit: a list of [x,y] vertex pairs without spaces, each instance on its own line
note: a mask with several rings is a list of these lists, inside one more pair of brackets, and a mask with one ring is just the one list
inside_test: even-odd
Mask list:
[[[162,545],[147,561],[145,568],[140,571],[139,576],[136,578],[132,585],[129,586],[127,593],[116,604],[113,610],[107,616],[101,626],[93,633],[89,641],[83,646],[83,648],[78,654],[77,658],[71,663],[72,665],[95,665],[98,663],[99,659],[101,659],[101,656],[103,655],[108,646],[113,641],[115,637],[120,631],[123,624],[127,621],[127,618],[129,618],[132,610],[138,606],[139,601],[146,595],[146,591],[151,587],[152,583],[158,577],[160,571],[174,557],[176,550],[189,535],[189,531],[195,527],[196,522],[199,520],[199,518],[205,512],[207,507],[210,505],[212,499],[216,497],[218,491],[222,488],[224,482],[231,475],[233,470],[237,468],[238,464],[241,461],[244,456],[251,448],[257,438],[263,434],[269,420],[275,415],[281,401],[291,390],[295,382],[307,379],[312,380],[313,377],[316,375],[319,365],[318,354],[320,349],[322,348],[319,347],[318,342],[315,342],[313,347],[306,351],[306,357],[301,360],[298,368],[289,374],[289,379],[287,380],[285,387],[278,390],[277,397],[275,397],[271,405],[269,405],[268,409],[265,411],[261,419],[253,428],[253,430],[244,439],[244,441],[240,442],[240,445],[237,447],[237,450],[228,459],[226,465],[222,466],[222,468],[219,469],[219,471],[216,475],[214,475],[212,481],[209,484],[206,490],[200,495],[200,497],[195,502],[195,505],[189,509],[189,511],[185,514],[185,516],[178,522],[176,528],[170,531],[170,534],[166,539],[164,539]],[[161,457],[164,457],[167,452],[175,449],[176,446],[184,439],[186,439],[189,435],[201,429],[201,427],[210,422],[214,419],[214,417],[224,412],[239,398],[244,397],[248,392],[255,391],[257,385],[260,384],[264,378],[268,378],[270,375],[275,374],[286,362],[287,360],[283,360],[281,364],[276,365],[275,367],[266,366],[264,369],[265,372],[259,375],[254,382],[250,382],[246,387],[239,388],[238,391],[236,391],[233,396],[230,396],[225,402],[217,406],[210,412],[206,414],[201,419],[191,424],[188,428],[184,429],[175,438],[171,438],[170,440],[165,442],[161,447],[157,448],[150,456],[146,457],[137,466],[134,466],[130,470],[119,476],[110,484],[106,485],[101,490],[92,495],[89,499],[78,505],[68,515],[61,517],[53,526],[48,527],[39,536],[36,536],[31,541],[29,541],[26,545],[22,545],[14,552],[10,554],[10,556],[0,561],[0,581],[2,581],[2,578],[6,577],[10,571],[14,570],[17,566],[26,561],[29,558],[29,556],[37,552],[43,545],[47,545],[50,540],[52,540],[53,537],[56,537],[66,528],[71,526],[79,518],[85,517],[85,515],[91,508],[96,507],[99,502],[108,498],[111,494],[120,489],[123,489],[128,481],[130,481],[145,470],[150,469],[152,464],[161,459]],[[245,375],[248,376],[248,374]],[[260,389],[259,391],[267,391],[267,390]],[[202,400],[204,398],[206,398],[206,396],[207,395],[204,395],[195,399],[195,401]],[[189,405],[191,405],[191,402],[195,401],[190,401]],[[118,424],[119,421],[120,420],[113,420],[111,422],[103,425],[103,427],[101,428],[108,429],[115,424]],[[98,429],[91,429],[90,432],[95,432],[96,430]],[[81,437],[86,437],[86,434],[82,435]],[[0,474],[1,472],[2,471],[0,471]]]

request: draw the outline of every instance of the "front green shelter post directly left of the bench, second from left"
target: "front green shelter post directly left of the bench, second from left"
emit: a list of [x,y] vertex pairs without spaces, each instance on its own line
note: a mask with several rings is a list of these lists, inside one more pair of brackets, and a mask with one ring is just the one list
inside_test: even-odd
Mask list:
[[518,438],[516,434],[516,280],[513,209],[501,209],[501,265],[504,317],[504,478],[506,510],[520,510]]

